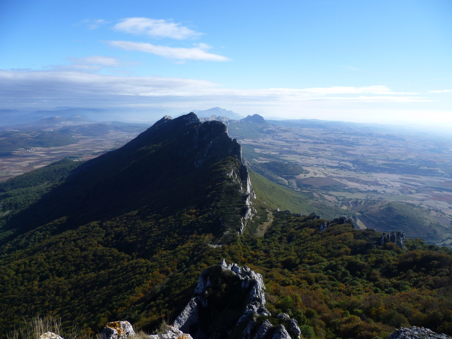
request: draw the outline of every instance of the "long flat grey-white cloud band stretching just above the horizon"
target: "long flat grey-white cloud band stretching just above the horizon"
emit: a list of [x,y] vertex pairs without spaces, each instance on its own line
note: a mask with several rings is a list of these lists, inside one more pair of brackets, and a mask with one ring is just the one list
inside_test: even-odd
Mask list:
[[[94,58],[94,57],[93,57]],[[99,59],[104,63],[113,63]],[[193,103],[297,107],[303,102],[416,103],[431,101],[386,86],[228,89],[205,80],[100,75],[82,71],[0,71],[2,107],[48,104],[93,107],[187,107]]]

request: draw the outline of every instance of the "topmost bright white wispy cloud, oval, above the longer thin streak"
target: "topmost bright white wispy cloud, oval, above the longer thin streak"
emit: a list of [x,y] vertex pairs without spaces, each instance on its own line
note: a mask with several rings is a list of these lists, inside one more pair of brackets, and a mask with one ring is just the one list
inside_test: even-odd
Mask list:
[[147,34],[154,38],[188,39],[196,38],[202,33],[195,32],[188,27],[182,26],[163,19],[148,18],[126,18],[114,28],[118,31],[132,34]]

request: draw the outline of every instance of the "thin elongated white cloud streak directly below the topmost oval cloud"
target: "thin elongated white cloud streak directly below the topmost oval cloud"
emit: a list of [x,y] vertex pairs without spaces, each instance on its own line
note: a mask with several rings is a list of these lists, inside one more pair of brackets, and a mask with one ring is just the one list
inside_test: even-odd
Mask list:
[[[168,47],[168,46],[155,46],[147,42],[132,42],[132,41],[108,41],[111,46],[122,48],[126,51],[140,51],[160,56],[165,56],[170,59],[178,60],[205,60],[205,61],[229,61],[226,56],[218,54],[207,53],[204,49],[206,44],[203,44],[203,48],[192,47]],[[206,46],[204,46],[206,45]]]

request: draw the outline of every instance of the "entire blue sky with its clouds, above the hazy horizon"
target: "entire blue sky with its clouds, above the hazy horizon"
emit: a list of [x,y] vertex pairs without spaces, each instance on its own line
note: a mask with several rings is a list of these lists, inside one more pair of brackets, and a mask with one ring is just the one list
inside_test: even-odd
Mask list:
[[0,109],[452,126],[451,1],[0,1]]

